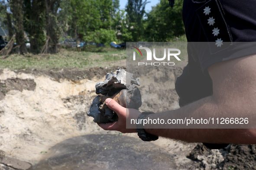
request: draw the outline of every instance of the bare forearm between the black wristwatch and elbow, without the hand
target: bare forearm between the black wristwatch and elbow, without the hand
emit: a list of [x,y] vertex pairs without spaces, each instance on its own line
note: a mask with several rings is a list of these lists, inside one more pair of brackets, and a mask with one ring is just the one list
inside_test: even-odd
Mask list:
[[[164,113],[150,114],[149,119],[179,119],[185,117],[225,117],[241,115],[240,110],[223,110],[213,99],[212,96],[203,98],[199,101],[188,104],[178,110],[172,110]],[[242,115],[245,116],[246,113]],[[249,116],[249,115],[248,115]],[[165,124],[167,129],[156,129],[160,125],[144,126],[146,132],[159,135],[166,138],[182,140],[186,142],[205,142],[205,143],[237,143],[252,144],[256,143],[256,135],[253,129],[173,129],[172,124]],[[152,127],[154,129],[152,129]],[[212,128],[212,126],[211,126]]]

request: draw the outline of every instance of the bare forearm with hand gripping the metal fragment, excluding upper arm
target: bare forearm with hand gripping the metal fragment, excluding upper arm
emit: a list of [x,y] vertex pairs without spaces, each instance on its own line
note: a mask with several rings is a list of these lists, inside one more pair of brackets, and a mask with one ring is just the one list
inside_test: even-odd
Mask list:
[[[140,112],[134,109],[126,109],[111,99],[107,99],[106,101],[107,106],[118,114],[119,119],[114,123],[100,123],[99,126],[105,130],[117,130],[122,133],[136,132],[136,123],[131,123],[131,120],[136,120]],[[239,104],[236,102],[234,103],[234,101],[237,100],[234,99],[229,103],[222,101],[216,102],[214,98],[210,96],[188,104],[187,106],[178,110],[150,114],[146,119],[149,118],[151,120],[157,120],[159,118],[163,120],[177,120],[185,117],[217,118],[232,116],[250,117],[249,121],[254,123],[254,112],[256,110],[254,101],[256,101],[256,99],[251,100],[251,102],[244,100]],[[127,126],[129,127],[128,129]],[[186,142],[256,144],[255,129],[220,129],[220,127],[215,127],[215,129],[207,129],[207,126],[208,125],[204,126],[203,129],[177,129],[175,126],[173,126],[173,124],[164,124],[163,126],[161,124],[154,124],[153,126],[152,124],[146,124],[144,129],[146,132],[153,135],[159,135],[162,137],[182,140]]]

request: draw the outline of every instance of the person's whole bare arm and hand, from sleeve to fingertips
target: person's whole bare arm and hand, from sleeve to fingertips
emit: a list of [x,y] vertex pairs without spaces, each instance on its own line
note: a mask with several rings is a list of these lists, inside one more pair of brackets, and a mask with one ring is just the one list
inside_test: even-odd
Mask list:
[[[208,72],[213,81],[212,96],[178,110],[151,114],[149,118],[167,120],[186,113],[194,117],[253,117],[256,114],[256,55],[216,63],[208,68]],[[110,101],[108,107],[116,111],[121,119],[116,123],[100,124],[103,129],[136,132],[136,129],[126,129],[125,117],[128,120],[134,119],[139,115],[139,111],[128,110],[126,115],[126,109],[114,101]],[[148,133],[187,142],[256,144],[256,129],[150,129],[147,125],[144,127]]]

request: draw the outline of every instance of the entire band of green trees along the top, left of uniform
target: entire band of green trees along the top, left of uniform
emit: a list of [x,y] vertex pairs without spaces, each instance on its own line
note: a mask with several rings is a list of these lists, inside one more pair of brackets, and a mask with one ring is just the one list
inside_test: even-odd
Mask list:
[[[117,41],[117,35],[120,42],[186,41],[182,22],[183,0],[175,0],[173,8],[169,7],[168,0],[159,0],[149,13],[145,12],[147,0],[128,0],[125,10],[119,9],[120,0],[10,0],[11,3],[9,0],[0,0],[0,2],[2,23],[9,32],[13,30],[12,25],[16,28],[24,25],[24,30],[29,33],[30,49],[33,53],[40,52],[47,38],[49,38],[48,51],[51,53],[58,51],[56,44],[61,37],[60,25],[65,38],[78,38],[79,35],[81,39],[78,41],[93,41],[105,45]],[[22,2],[22,12],[14,16],[10,13],[10,9],[17,9],[15,7],[17,2]],[[11,8],[9,8],[10,4],[12,4]],[[16,19],[18,16],[19,19]],[[17,24],[13,24],[12,21]],[[18,35],[23,34],[20,32]],[[19,44],[23,42],[19,40]]]

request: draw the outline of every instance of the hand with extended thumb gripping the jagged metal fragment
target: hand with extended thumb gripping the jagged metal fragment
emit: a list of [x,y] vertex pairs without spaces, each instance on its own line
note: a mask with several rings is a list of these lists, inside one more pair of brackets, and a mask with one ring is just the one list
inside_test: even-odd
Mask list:
[[107,107],[117,113],[118,120],[113,123],[98,123],[98,125],[104,130],[117,130],[122,133],[133,133],[136,132],[136,124],[133,125],[133,129],[126,129],[126,123],[130,123],[131,119],[137,119],[139,110],[126,109],[118,104],[111,98],[106,99]]

